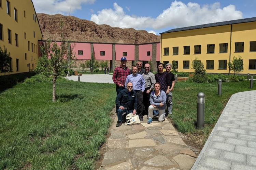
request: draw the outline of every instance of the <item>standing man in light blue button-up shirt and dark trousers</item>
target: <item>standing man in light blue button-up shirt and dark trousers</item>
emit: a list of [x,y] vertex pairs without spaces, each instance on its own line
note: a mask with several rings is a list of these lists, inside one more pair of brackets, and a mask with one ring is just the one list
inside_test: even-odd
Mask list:
[[145,90],[145,80],[142,75],[138,74],[138,68],[132,66],[132,74],[128,75],[125,81],[125,85],[128,82],[133,84],[133,90],[137,94],[137,114],[140,117],[140,121],[143,121],[143,91]]

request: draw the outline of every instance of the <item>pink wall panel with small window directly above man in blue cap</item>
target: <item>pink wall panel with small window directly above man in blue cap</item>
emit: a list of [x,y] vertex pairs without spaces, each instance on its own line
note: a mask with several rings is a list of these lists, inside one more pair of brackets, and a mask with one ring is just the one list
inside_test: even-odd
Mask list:
[[119,60],[121,57],[123,57],[123,52],[127,52],[126,60],[134,60],[134,53],[135,53],[135,46],[134,45],[122,45],[122,44],[116,44],[115,45],[116,50],[116,59]]

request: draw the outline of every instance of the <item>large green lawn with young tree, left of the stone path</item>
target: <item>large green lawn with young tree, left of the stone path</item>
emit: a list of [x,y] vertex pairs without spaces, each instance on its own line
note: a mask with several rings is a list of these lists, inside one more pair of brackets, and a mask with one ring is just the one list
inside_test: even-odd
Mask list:
[[111,124],[114,84],[19,83],[0,93],[0,169],[94,169]]

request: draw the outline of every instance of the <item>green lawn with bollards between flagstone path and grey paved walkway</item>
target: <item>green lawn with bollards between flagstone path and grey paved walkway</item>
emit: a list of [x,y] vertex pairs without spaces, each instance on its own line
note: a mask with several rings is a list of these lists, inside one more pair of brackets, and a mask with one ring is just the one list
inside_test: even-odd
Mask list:
[[[215,83],[175,83],[173,90],[173,115],[171,116],[176,128],[191,137],[192,140],[203,145],[217,122],[225,103],[232,94],[251,90],[250,81],[223,82],[222,96],[217,95],[217,82]],[[256,89],[256,81],[254,87]],[[195,127],[197,121],[197,94],[205,94],[205,125],[202,130]]]

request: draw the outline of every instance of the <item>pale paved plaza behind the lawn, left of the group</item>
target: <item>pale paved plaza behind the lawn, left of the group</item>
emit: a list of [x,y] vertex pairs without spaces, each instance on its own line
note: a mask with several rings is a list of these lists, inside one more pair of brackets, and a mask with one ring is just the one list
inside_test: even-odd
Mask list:
[[[65,77],[68,80],[77,81],[78,77],[76,76],[70,76]],[[83,74],[80,76],[81,82],[93,82],[93,83],[112,83],[114,84],[112,80],[112,75],[109,74]]]

